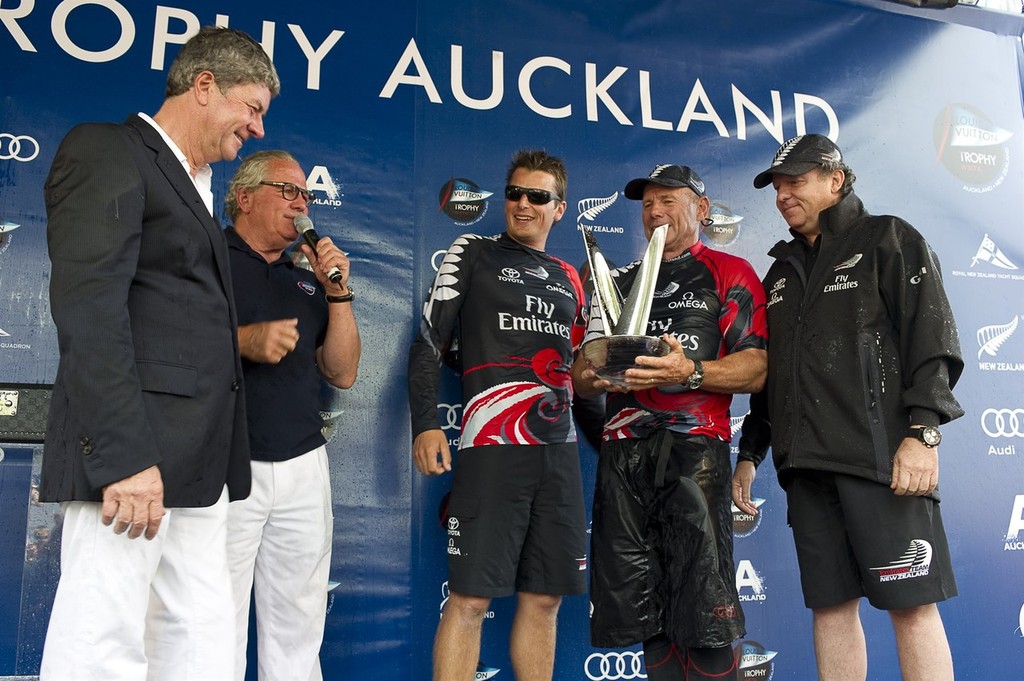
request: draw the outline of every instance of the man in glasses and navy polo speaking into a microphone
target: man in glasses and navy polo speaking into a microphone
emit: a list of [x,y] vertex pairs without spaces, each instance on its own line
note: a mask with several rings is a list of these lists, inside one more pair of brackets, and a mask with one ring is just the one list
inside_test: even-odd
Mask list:
[[233,223],[225,235],[253,477],[249,498],[232,502],[227,515],[239,681],[245,678],[251,591],[259,679],[323,678],[334,531],[321,381],[352,386],[359,334],[345,254],[328,237],[316,242],[315,252],[302,244],[310,272],[287,252],[299,236],[295,218],[309,210],[305,184],[290,154],[258,152],[239,167],[224,201]]

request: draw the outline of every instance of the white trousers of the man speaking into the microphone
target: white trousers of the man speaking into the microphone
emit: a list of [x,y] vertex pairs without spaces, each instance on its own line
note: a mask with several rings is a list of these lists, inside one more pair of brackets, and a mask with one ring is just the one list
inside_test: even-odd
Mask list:
[[236,678],[245,678],[255,586],[260,681],[319,681],[334,541],[327,449],[288,461],[254,461],[252,472],[249,498],[231,502],[227,513]]

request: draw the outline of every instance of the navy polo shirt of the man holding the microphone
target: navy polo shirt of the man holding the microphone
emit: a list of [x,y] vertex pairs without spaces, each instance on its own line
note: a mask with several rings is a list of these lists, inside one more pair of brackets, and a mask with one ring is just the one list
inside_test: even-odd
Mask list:
[[242,359],[249,443],[254,461],[287,461],[326,440],[319,415],[322,378],[316,348],[327,335],[328,309],[316,276],[289,255],[267,262],[233,227],[224,230],[239,326],[299,320],[299,343],[276,365]]

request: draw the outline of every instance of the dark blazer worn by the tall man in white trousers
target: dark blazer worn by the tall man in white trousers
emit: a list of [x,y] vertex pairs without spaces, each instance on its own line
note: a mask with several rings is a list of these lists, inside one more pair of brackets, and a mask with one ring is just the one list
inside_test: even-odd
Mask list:
[[60,363],[43,501],[99,501],[153,465],[164,504],[249,494],[227,247],[188,174],[137,116],[87,123],[45,186]]

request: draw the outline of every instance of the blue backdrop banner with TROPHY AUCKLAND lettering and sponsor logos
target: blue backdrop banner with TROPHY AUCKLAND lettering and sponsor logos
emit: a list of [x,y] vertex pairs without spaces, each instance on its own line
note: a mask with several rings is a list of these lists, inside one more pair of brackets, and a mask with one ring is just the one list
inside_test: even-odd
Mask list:
[[[0,382],[54,379],[42,185],[61,137],[83,121],[155,113],[167,67],[201,26],[253,35],[283,88],[266,137],[243,154],[298,158],[318,196],[311,217],[349,253],[359,292],[359,379],[325,389],[321,405],[335,505],[324,676],[427,679],[449,594],[438,509],[451,476],[424,478],[411,464],[406,360],[444,249],[504,229],[511,155],[565,159],[569,208],[548,250],[570,263],[586,259],[583,225],[614,262],[638,257],[640,209],[623,187],[679,163],[713,200],[703,241],[764,274],[768,249],[788,236],[754,175],[784,139],[824,133],[867,209],[909,221],[942,263],[968,364],[956,388],[967,415],[944,428],[941,462],[959,596],[940,611],[957,678],[1019,679],[1024,22],[980,12],[881,0],[4,0]],[[215,167],[218,207],[237,164]],[[439,426],[457,444],[453,375],[441,401]],[[734,433],[746,411],[737,396]],[[0,444],[0,677],[38,674],[56,583],[61,516],[35,498],[40,449]],[[581,443],[588,506],[596,458]],[[759,515],[734,509],[740,678],[803,681],[814,675],[811,621],[770,465],[755,495]],[[646,678],[639,648],[590,646],[589,609],[586,596],[562,605],[556,678]],[[513,610],[514,599],[496,599],[486,613],[478,679],[513,678]],[[900,678],[888,616],[862,614],[869,678]]]

